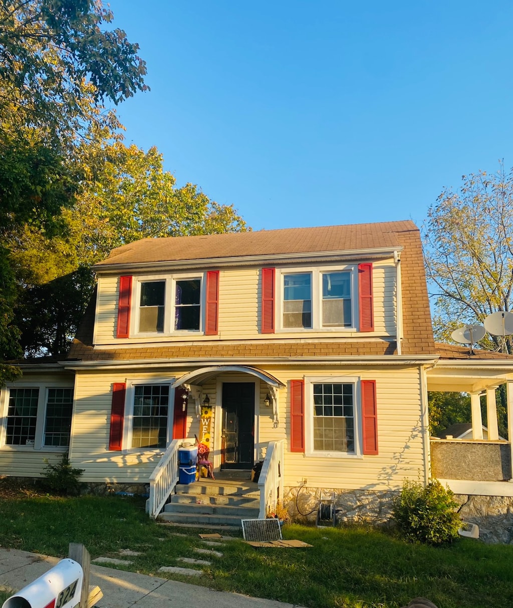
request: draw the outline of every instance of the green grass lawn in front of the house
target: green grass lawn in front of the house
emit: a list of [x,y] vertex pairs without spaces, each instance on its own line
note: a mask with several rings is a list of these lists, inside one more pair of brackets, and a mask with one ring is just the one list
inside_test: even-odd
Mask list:
[[439,608],[513,604],[513,547],[470,539],[434,548],[371,528],[290,525],[285,538],[313,547],[255,549],[240,538],[223,545],[223,557],[209,558],[212,565],[191,581],[158,568],[187,565],[178,557],[204,558],[194,553],[205,547],[201,530],[153,522],[139,499],[12,493],[0,497],[0,522],[2,547],[66,557],[69,543],[81,542],[92,559],[119,557],[119,550],[129,548],[142,552],[130,558],[135,572],[301,606],[393,608],[415,596]]

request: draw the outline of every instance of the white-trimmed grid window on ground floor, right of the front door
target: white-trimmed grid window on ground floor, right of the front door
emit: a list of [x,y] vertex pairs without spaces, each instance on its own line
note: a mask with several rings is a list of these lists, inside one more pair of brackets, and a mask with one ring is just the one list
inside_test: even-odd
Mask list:
[[312,456],[361,454],[359,379],[305,378],[305,452]]

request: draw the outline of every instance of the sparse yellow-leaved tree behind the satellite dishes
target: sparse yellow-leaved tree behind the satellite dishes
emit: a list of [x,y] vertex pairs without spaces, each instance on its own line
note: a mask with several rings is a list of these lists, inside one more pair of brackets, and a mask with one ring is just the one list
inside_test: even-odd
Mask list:
[[[445,188],[424,224],[425,268],[434,297],[434,333],[450,340],[462,323],[513,308],[513,173],[463,176]],[[511,337],[481,345],[513,353]]]

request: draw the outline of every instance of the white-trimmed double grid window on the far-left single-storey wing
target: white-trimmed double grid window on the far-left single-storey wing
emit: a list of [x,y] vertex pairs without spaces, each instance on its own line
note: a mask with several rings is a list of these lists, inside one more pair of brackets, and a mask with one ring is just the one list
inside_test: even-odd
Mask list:
[[3,444],[60,449],[69,446],[72,387],[16,386],[5,389]]

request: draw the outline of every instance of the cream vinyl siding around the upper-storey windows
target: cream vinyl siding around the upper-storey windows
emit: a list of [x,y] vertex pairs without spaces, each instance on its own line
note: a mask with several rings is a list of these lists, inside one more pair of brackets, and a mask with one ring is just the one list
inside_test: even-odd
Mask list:
[[[302,266],[304,268],[304,266]],[[315,268],[323,269],[322,265]],[[332,268],[332,264],[330,265]],[[295,267],[287,268],[287,272],[294,272]],[[175,273],[176,275],[176,273]],[[279,272],[277,272],[277,276]],[[139,275],[139,277],[142,275]],[[154,275],[152,275],[154,276]],[[287,337],[287,339],[301,338],[306,336],[312,338],[354,338],[361,336],[395,336],[396,335],[396,266],[393,260],[380,261],[373,264],[372,282],[374,294],[374,325],[375,330],[371,333],[361,334],[358,331],[311,331],[301,332],[287,331],[275,334],[276,337]],[[163,278],[166,275],[162,275]],[[277,278],[279,284],[279,278]],[[260,268],[241,268],[221,270],[219,273],[219,308],[218,308],[218,334],[215,336],[204,336],[194,333],[190,336],[180,333],[179,335],[151,337],[133,337],[128,339],[116,339],[117,323],[117,291],[119,289],[119,277],[100,276],[98,280],[97,317],[94,330],[94,343],[98,345],[116,344],[145,344],[146,342],[187,342],[188,340],[208,341],[220,339],[270,339],[273,334],[262,334],[260,332],[260,312],[262,300],[262,280]],[[357,294],[354,294],[357,295]],[[281,288],[276,288],[276,298],[282,297]],[[135,302],[132,302],[136,306]],[[204,308],[204,307],[203,307]],[[275,303],[275,313],[279,314],[279,302]],[[354,307],[358,314],[357,303]],[[134,314],[133,312],[131,313]],[[202,310],[203,314],[203,310]],[[281,321],[276,319],[276,326]],[[358,325],[358,319],[355,319]]]

